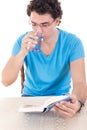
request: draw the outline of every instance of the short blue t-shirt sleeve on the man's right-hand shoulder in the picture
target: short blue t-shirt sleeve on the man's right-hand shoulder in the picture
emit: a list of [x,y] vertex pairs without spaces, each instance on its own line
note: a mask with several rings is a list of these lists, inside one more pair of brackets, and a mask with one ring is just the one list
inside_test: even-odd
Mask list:
[[75,39],[70,53],[70,62],[85,57],[84,47],[80,39]]

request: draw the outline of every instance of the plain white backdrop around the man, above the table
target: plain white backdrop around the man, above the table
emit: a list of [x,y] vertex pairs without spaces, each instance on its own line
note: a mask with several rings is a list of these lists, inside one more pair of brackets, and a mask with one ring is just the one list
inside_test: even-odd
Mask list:
[[[87,6],[86,0],[60,0],[63,18],[60,28],[76,34],[83,42],[87,56]],[[16,97],[21,95],[20,76],[15,83],[4,87],[1,72],[11,55],[15,40],[29,30],[26,7],[29,0],[0,1],[0,96]],[[20,75],[20,74],[19,74]]]

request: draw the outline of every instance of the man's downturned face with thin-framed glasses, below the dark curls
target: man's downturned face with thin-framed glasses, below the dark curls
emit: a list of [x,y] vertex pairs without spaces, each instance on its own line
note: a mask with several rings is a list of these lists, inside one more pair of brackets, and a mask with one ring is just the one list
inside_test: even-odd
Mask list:
[[40,32],[45,38],[53,35],[56,26],[58,25],[58,19],[53,19],[50,14],[40,15],[35,11],[31,12],[30,21],[32,29],[35,32]]

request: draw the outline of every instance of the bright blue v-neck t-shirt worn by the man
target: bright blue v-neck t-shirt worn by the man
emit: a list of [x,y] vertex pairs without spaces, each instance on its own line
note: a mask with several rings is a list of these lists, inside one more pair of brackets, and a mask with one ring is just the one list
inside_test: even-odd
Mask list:
[[[21,49],[21,35],[14,44],[12,55]],[[22,95],[49,96],[70,93],[70,62],[84,57],[81,40],[74,34],[59,29],[54,50],[49,56],[32,50],[24,59],[26,66]]]

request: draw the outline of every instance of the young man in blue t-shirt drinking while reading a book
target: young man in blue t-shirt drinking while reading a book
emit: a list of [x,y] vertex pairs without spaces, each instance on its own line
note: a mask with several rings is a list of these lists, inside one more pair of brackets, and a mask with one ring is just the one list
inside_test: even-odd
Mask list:
[[[74,34],[57,28],[62,18],[58,0],[32,0],[27,6],[27,14],[33,31],[17,39],[2,72],[2,82],[5,86],[12,84],[24,63],[23,96],[70,94],[72,78],[71,102],[54,107],[63,117],[72,117],[81,109],[87,96],[82,42]],[[40,46],[38,34],[42,37]],[[39,48],[35,49],[37,45]]]

